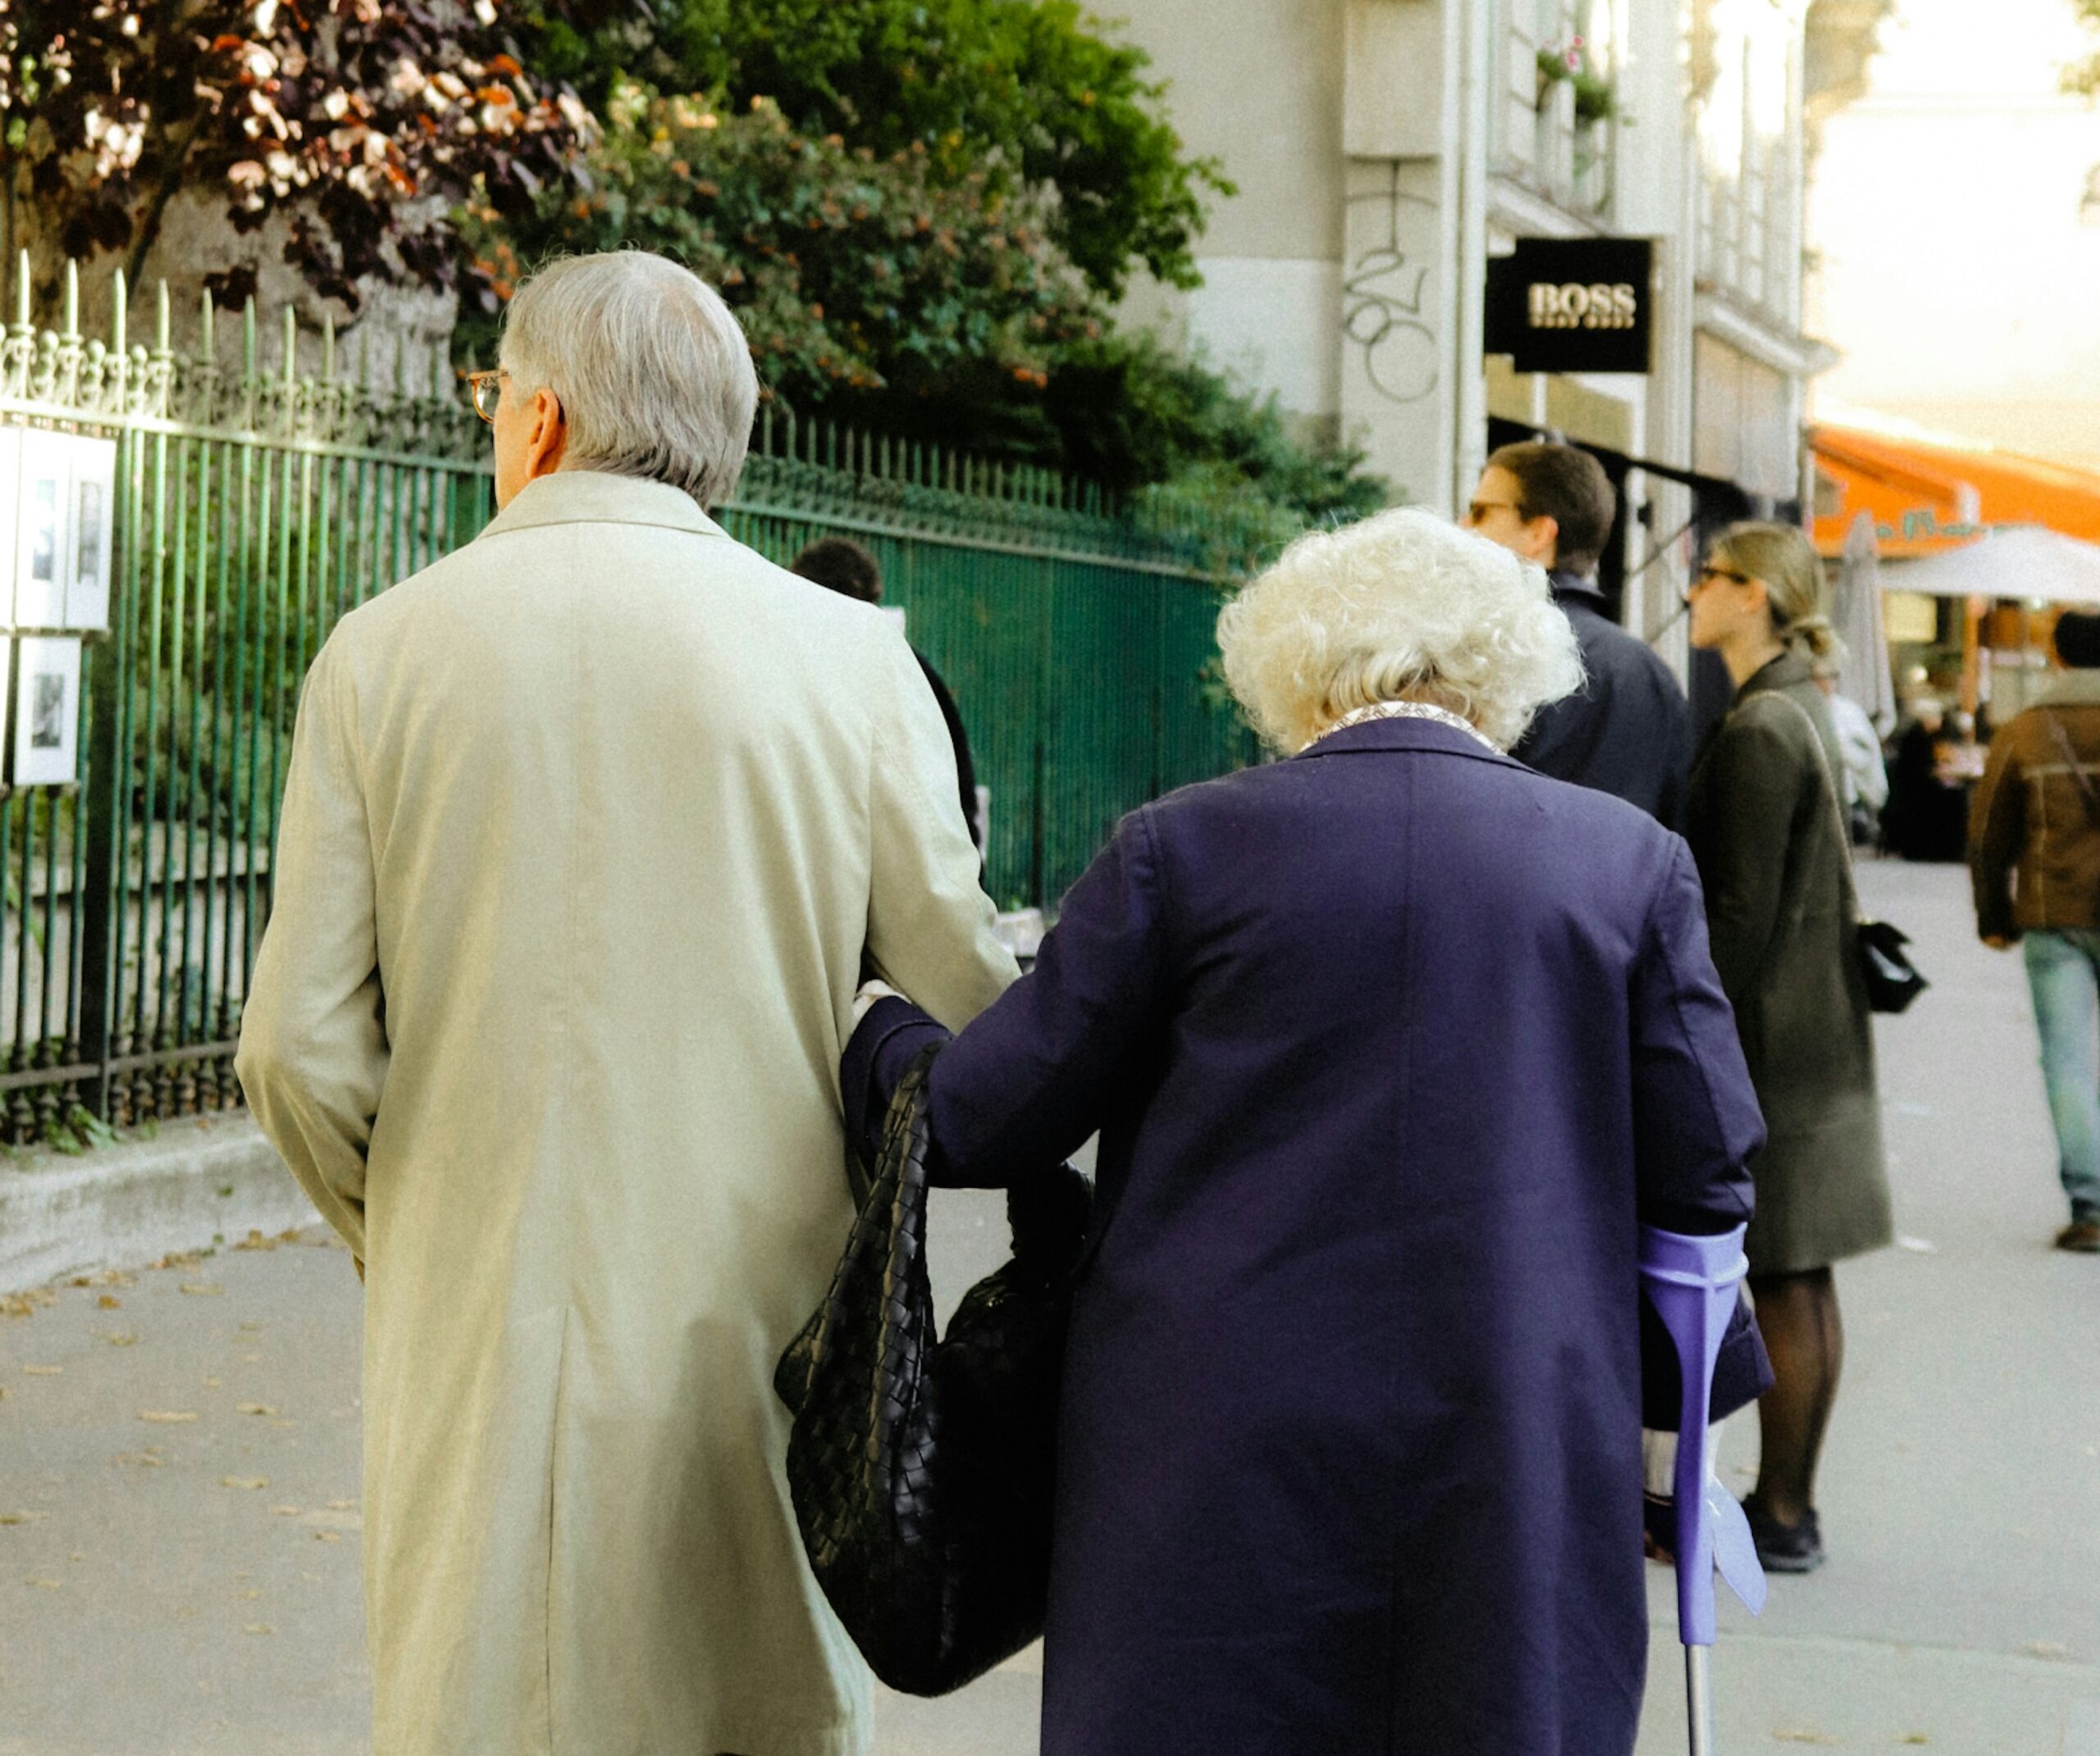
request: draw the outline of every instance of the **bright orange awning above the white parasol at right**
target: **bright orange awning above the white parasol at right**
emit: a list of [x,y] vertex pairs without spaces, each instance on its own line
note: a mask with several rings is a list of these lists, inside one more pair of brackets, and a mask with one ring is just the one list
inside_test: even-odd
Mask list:
[[[1861,512],[1884,556],[1940,554],[1987,531],[2039,524],[2100,541],[2100,474],[2018,451],[1928,445],[1861,428],[1808,430],[1816,474],[1816,548],[1844,552]],[[1831,493],[1835,489],[1835,493]]]

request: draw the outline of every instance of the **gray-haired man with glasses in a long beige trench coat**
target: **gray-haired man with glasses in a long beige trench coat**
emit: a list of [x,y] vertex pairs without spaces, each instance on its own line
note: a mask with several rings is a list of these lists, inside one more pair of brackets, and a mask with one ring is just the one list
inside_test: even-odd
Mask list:
[[307,678],[239,1076],[365,1278],[376,1756],[869,1741],[773,1364],[863,950],[958,1028],[1014,965],[903,638],[701,510],[754,403],[685,269],[548,269],[496,520]]

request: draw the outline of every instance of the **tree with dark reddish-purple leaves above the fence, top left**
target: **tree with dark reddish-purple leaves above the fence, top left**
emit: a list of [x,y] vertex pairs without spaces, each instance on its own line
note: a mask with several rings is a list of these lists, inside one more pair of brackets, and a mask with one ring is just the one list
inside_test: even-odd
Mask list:
[[212,191],[237,233],[281,214],[353,310],[368,277],[449,287],[447,210],[527,206],[590,128],[514,50],[496,0],[0,0],[8,237],[136,279],[168,204]]

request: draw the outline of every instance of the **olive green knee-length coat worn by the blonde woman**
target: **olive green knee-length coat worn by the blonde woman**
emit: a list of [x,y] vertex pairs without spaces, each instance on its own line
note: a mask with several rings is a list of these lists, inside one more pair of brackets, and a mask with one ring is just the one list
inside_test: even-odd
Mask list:
[[1751,1273],[1825,1267],[1892,1238],[1852,850],[1829,778],[1840,764],[1829,705],[1787,652],[1743,684],[1693,768],[1684,835],[1768,1131],[1749,1166]]

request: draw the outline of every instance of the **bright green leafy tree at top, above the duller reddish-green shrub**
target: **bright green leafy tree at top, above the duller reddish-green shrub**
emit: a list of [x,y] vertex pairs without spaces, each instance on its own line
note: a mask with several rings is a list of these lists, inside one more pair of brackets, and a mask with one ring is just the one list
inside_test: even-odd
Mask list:
[[817,138],[924,149],[937,178],[1052,187],[1050,237],[1111,300],[1138,264],[1195,285],[1203,197],[1231,193],[1184,153],[1144,50],[1075,0],[628,0],[590,19],[542,0],[523,17],[527,65],[601,109],[628,76],[737,109],[764,97]]

